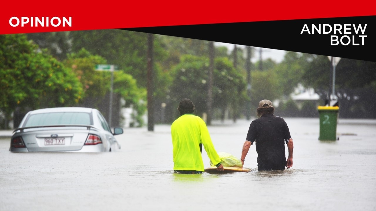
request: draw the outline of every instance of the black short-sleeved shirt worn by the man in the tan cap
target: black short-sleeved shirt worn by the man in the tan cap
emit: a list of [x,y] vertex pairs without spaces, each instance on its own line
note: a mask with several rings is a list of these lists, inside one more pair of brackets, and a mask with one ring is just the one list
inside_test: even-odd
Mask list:
[[258,170],[285,169],[288,139],[291,139],[290,131],[279,116],[266,114],[251,122],[246,140],[256,142]]

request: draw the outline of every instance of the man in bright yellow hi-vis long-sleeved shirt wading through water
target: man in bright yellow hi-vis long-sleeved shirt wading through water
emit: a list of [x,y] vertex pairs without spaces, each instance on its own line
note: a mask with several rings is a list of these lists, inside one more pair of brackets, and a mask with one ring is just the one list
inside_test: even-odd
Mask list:
[[174,172],[202,173],[202,145],[209,159],[216,164],[217,170],[223,171],[221,159],[214,149],[205,122],[199,116],[193,115],[193,102],[190,99],[182,99],[177,110],[181,116],[171,125]]

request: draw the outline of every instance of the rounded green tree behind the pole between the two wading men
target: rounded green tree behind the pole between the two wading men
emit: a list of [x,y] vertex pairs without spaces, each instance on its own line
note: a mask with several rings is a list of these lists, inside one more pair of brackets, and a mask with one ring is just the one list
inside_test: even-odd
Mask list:
[[[180,99],[189,98],[195,104],[195,113],[202,115],[206,112],[208,98],[208,69],[209,59],[184,55],[181,62],[173,69],[173,84],[171,86],[172,103],[179,104]],[[215,58],[213,72],[213,109],[229,106],[234,99],[242,98],[244,95],[239,90],[244,90],[243,77],[236,71],[226,57]],[[242,99],[243,100],[243,99]]]

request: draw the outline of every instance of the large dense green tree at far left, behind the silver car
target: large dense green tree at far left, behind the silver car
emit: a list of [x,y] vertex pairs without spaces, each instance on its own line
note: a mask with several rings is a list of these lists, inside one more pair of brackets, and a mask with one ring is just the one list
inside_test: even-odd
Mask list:
[[81,84],[73,72],[38,50],[25,34],[0,36],[0,110],[7,121],[16,108],[70,106],[82,98]]

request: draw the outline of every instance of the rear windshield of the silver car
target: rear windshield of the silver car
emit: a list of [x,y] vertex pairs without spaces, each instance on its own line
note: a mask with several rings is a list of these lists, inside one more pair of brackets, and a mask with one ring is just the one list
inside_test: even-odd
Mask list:
[[54,112],[30,115],[23,127],[42,125],[90,125],[90,113]]

